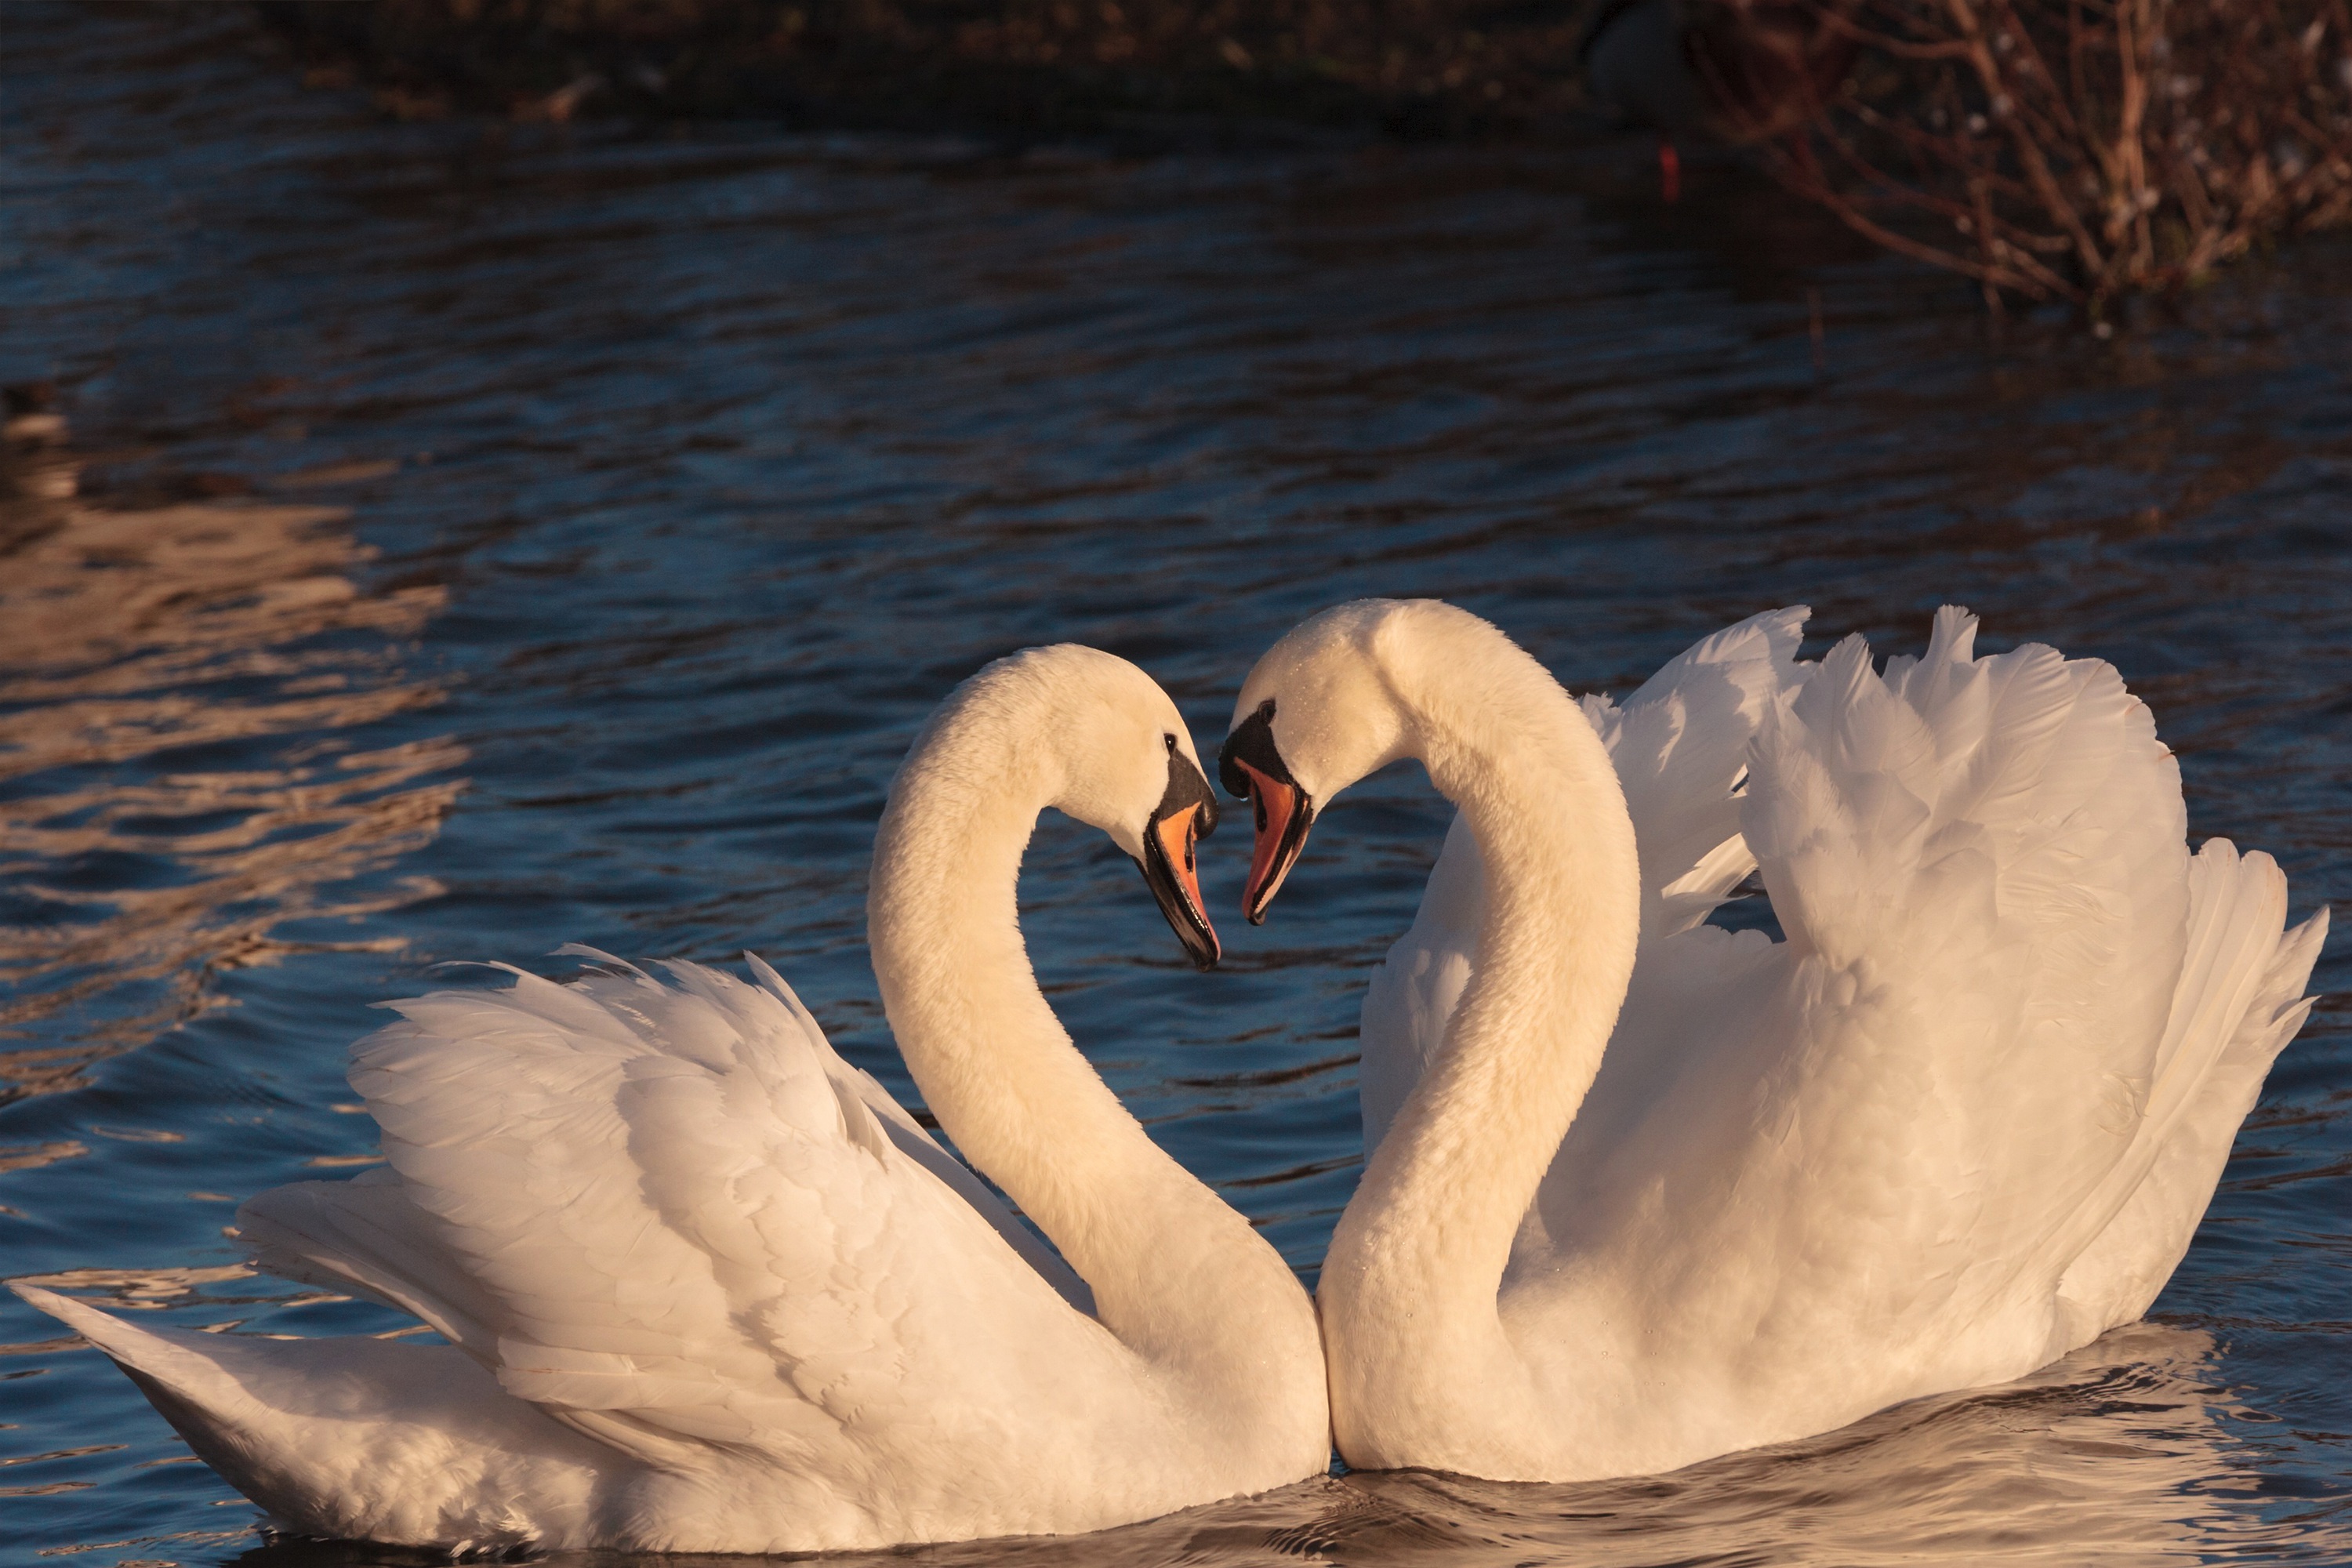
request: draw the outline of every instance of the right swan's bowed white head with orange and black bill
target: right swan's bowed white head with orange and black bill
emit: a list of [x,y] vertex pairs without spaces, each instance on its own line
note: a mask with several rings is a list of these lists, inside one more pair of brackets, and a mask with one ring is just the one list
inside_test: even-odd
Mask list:
[[1484,628],[1437,599],[1357,599],[1301,621],[1242,682],[1216,769],[1228,792],[1256,806],[1242,891],[1251,926],[1265,924],[1315,813],[1367,773],[1416,755],[1395,654],[1404,639],[1461,630],[1456,621]]

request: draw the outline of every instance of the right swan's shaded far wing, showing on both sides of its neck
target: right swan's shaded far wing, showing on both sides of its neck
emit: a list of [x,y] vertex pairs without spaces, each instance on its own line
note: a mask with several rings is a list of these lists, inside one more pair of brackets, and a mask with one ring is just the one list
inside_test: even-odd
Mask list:
[[[1703,922],[1755,870],[1740,837],[1740,780],[1766,710],[1811,668],[1797,663],[1809,614],[1804,607],[1773,609],[1703,637],[1625,703],[1583,698],[1632,813],[1646,954],[1658,938]],[[1477,837],[1456,813],[1414,926],[1364,990],[1357,1086],[1367,1157],[1444,1039],[1477,966],[1484,910]],[[1663,961],[1675,957],[1682,954]]]

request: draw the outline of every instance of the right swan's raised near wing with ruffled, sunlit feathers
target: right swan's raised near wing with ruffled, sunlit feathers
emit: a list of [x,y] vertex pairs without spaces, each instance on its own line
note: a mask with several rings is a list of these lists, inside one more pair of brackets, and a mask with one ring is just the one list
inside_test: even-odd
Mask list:
[[1926,656],[1882,677],[1849,637],[1759,733],[1743,827],[1788,943],[1759,973],[1773,1060],[1748,1081],[1780,1150],[1752,1154],[1804,1171],[1809,1222],[1863,1199],[1879,1244],[1964,1258],[1987,1291],[1987,1258],[2053,1267],[2140,1131],[2183,969],[2187,823],[2112,665],[2037,644],[1976,658],[1973,639],[1945,607]]

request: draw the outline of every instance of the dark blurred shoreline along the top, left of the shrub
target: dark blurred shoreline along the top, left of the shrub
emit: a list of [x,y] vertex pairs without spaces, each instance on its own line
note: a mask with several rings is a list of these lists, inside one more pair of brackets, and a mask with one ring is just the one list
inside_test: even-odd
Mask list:
[[400,118],[764,118],[1122,150],[1557,141],[1588,0],[259,0]]

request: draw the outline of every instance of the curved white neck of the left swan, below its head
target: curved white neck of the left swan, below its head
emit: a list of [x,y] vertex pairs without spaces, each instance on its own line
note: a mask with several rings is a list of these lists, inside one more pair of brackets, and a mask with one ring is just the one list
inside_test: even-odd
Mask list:
[[[1004,684],[950,698],[875,837],[873,961],[908,1072],[1131,1349],[1202,1375],[1277,1352],[1319,1361],[1279,1255],[1143,1133],[1037,990],[1016,889],[1037,813],[1063,792],[1056,748],[1075,719]],[[1247,1354],[1207,1354],[1235,1347]]]

